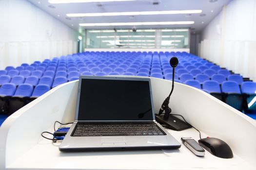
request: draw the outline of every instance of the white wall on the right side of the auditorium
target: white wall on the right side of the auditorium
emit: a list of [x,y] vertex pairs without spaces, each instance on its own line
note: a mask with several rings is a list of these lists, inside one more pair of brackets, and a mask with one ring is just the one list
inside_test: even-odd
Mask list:
[[233,0],[202,31],[199,56],[256,81],[256,0]]

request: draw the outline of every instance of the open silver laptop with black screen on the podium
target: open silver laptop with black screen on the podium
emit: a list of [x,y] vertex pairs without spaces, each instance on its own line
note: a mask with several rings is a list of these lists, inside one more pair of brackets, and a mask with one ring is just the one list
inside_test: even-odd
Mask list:
[[149,78],[80,76],[75,122],[60,151],[177,148],[155,121]]

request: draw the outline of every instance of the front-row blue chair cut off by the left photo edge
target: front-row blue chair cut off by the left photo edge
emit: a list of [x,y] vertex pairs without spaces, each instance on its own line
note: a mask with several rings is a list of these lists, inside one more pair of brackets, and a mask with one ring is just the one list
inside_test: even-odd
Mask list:
[[0,87],[0,114],[9,114],[9,101],[16,91],[16,85],[5,83]]

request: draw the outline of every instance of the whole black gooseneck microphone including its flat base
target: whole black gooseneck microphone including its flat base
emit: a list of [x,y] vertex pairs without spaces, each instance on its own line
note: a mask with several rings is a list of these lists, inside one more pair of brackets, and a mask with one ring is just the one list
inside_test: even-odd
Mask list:
[[[159,113],[158,113],[158,115],[156,115],[156,120],[158,121],[158,123],[165,125],[166,128],[173,129],[176,131],[181,131],[184,129],[191,128],[192,126],[174,116],[177,114],[170,114],[172,112],[172,109],[169,107],[168,104],[170,102],[170,97],[174,90],[174,74],[175,74],[175,68],[178,65],[177,57],[171,58],[170,65],[173,68],[172,90],[171,90],[171,93],[169,94],[169,96],[162,103]],[[164,115],[161,115],[163,113],[163,111],[164,111]]]

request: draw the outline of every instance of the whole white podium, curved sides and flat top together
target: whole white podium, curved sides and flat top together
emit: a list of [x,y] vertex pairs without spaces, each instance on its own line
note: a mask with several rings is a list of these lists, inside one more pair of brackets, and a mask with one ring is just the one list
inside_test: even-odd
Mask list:
[[[171,91],[172,82],[151,78],[155,112]],[[0,170],[79,169],[256,169],[256,122],[196,88],[175,83],[169,106],[202,132],[229,144],[232,159],[206,151],[197,157],[184,145],[178,150],[61,153],[59,143],[44,139],[41,132],[54,132],[54,121],[72,122],[75,117],[78,81],[59,85],[27,104],[0,127]],[[180,137],[199,139],[194,129],[168,130]]]

